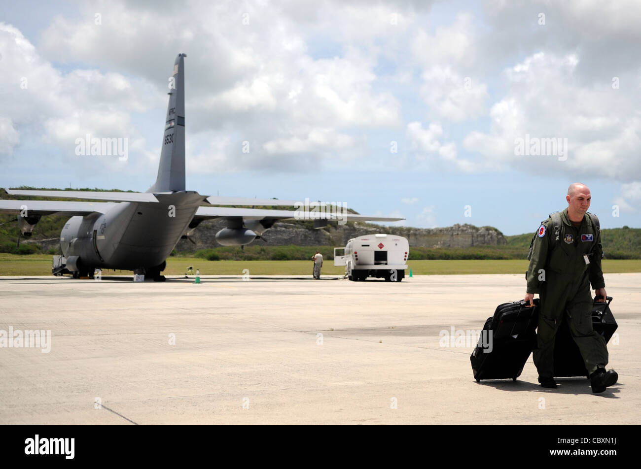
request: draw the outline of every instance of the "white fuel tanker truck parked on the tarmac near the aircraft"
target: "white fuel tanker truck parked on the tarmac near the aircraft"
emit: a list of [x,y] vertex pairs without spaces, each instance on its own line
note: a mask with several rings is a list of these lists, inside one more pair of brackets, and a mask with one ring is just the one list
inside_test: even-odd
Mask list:
[[334,249],[334,265],[345,266],[351,281],[367,277],[400,282],[405,276],[410,244],[395,234],[365,234]]

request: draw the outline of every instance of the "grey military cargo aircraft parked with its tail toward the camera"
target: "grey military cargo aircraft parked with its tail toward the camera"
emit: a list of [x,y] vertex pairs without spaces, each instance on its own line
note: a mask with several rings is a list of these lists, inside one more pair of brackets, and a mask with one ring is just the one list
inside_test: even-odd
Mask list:
[[[0,212],[17,214],[21,233],[30,236],[44,215],[71,215],[60,233],[66,268],[74,277],[92,276],[96,268],[133,270],[163,281],[165,259],[182,236],[203,220],[224,218],[216,234],[223,245],[246,245],[260,238],[277,220],[298,218],[296,211],[233,206],[297,206],[295,201],[208,197],[185,190],[185,69],[178,54],[170,78],[169,105],[156,182],[147,192],[11,190],[25,197],[88,199],[99,202],[0,200]],[[300,204],[300,202],[298,202]],[[396,221],[346,213],[346,220]],[[337,220],[331,211],[316,213],[316,227]]]

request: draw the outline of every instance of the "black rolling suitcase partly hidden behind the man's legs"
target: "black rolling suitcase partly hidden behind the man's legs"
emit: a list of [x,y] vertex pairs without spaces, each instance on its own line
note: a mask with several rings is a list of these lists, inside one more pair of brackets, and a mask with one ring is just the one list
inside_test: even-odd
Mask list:
[[[617,322],[610,311],[612,297],[606,298],[607,302],[594,299],[592,303],[592,328],[603,336],[608,343],[617,330]],[[586,376],[590,377],[585,368],[585,362],[579,352],[579,347],[572,339],[570,327],[564,316],[563,322],[556,331],[554,339],[554,377]]]

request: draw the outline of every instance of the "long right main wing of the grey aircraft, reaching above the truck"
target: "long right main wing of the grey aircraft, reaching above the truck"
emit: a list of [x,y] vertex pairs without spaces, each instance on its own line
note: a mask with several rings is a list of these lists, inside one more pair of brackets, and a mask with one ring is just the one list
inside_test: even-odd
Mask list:
[[[300,212],[304,215],[304,212]],[[199,207],[194,218],[244,218],[245,220],[287,220],[296,217],[297,212],[293,210],[267,210],[260,208],[228,208],[228,207]],[[335,213],[310,213],[317,215],[320,220],[347,220],[347,221],[369,221],[369,222],[397,222],[404,218],[394,217],[370,217],[369,215],[356,215],[355,213],[339,214],[338,218]],[[300,217],[299,219],[304,219]],[[312,219],[313,218],[308,218]]]

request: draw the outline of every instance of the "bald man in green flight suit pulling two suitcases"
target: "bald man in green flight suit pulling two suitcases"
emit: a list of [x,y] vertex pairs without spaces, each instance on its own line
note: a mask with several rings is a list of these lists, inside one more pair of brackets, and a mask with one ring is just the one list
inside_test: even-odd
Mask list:
[[585,360],[592,392],[601,393],[619,379],[614,370],[605,370],[608,349],[603,337],[592,329],[590,283],[601,301],[607,296],[601,270],[601,232],[597,218],[587,213],[591,200],[587,186],[572,184],[565,199],[568,208],[547,218],[533,241],[525,295],[531,305],[534,294],[540,295],[538,348],[533,358],[541,386],[556,388],[554,336],[567,311],[570,333]]

